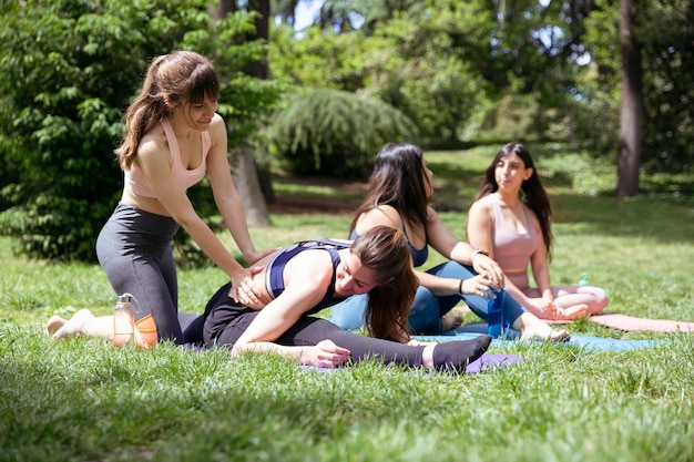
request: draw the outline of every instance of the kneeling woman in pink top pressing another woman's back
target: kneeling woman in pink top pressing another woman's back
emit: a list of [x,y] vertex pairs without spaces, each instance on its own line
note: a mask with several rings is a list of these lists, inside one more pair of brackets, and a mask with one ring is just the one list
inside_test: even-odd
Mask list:
[[[251,240],[227,161],[226,125],[216,113],[218,96],[212,63],[198,53],[176,51],[154,58],[125,114],[125,137],[115,150],[124,172],[123,194],[99,235],[96,255],[115,292],[136,300],[135,343],[141,347],[202,340],[202,325],[182,325],[190,317],[178,316],[172,239],[180,227],[226,273],[232,298],[257,302],[261,291],[253,274],[259,268],[236,261],[186,195],[205,174],[244,258],[253,265],[274,251],[257,251]],[[80,310],[70,321],[52,317],[47,330],[53,338],[79,332],[110,339],[113,317]]]

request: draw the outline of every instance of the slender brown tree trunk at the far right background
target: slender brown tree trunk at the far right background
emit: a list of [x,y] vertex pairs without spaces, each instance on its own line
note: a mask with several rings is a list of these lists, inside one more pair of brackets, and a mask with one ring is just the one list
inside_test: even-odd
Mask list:
[[620,104],[620,161],[616,196],[639,193],[641,138],[643,125],[643,95],[641,49],[634,37],[636,3],[620,0],[620,44],[622,52],[622,100]]

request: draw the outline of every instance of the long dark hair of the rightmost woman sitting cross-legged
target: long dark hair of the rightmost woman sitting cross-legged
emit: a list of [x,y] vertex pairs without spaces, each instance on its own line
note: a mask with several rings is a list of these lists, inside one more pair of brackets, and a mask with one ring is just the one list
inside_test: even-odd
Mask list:
[[540,182],[538,170],[535,168],[534,162],[532,162],[528,147],[520,143],[509,143],[499,150],[494,160],[484,171],[484,179],[482,182],[482,186],[480,187],[480,192],[477,195],[477,199],[479,201],[499,189],[494,171],[497,170],[499,160],[511,153],[514,153],[521,158],[521,161],[523,161],[525,168],[532,168],[532,175],[530,175],[528,179],[523,181],[521,185],[521,191],[523,193],[521,201],[528,205],[540,222],[542,237],[544,238],[544,250],[548,260],[550,260],[552,258],[552,207],[550,206],[550,199],[547,196],[547,192]]

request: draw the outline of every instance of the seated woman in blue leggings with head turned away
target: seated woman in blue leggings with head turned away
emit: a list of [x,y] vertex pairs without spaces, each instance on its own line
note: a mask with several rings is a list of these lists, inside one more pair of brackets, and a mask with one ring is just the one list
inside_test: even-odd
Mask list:
[[[412,265],[423,265],[429,246],[449,259],[427,271],[416,271],[417,295],[408,310],[414,333],[438,335],[456,328],[461,319],[447,315],[460,300],[487,320],[490,289],[503,286],[503,273],[486,251],[459,240],[429,205],[433,195],[431,177],[423,152],[409,143],[384,146],[374,165],[364,203],[351,222],[351,238],[375,226],[388,226],[404,233],[412,255]],[[484,248],[484,247],[480,247]],[[366,297],[353,296],[333,307],[333,322],[344,329],[356,329],[364,321]],[[511,297],[504,297],[504,317],[523,339],[569,339],[565,330],[552,328],[528,312]]]

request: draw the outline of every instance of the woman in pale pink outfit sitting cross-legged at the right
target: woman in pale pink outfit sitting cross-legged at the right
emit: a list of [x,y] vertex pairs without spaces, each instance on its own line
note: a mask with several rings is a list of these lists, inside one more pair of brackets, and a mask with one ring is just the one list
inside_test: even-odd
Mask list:
[[[522,194],[521,194],[522,192]],[[506,290],[541,319],[571,320],[608,305],[600,287],[552,286],[552,211],[528,148],[509,143],[484,172],[468,214],[468,240],[490,249],[506,276]],[[530,287],[528,266],[537,288]]]

